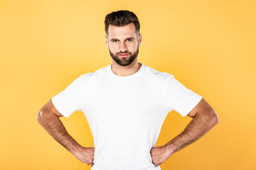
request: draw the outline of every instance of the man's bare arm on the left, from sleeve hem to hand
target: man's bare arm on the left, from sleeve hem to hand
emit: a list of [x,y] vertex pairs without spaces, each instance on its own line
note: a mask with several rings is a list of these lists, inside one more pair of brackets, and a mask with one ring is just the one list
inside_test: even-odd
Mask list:
[[93,166],[94,147],[83,147],[78,144],[66,131],[64,125],[59,117],[63,115],[55,108],[50,100],[38,112],[38,123],[46,129],[46,131],[70,153],[74,154],[76,158],[82,162],[91,164]]

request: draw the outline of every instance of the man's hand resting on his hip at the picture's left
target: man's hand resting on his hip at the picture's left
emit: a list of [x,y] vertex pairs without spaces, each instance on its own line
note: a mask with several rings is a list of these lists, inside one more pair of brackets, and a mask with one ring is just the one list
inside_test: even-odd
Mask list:
[[79,161],[82,161],[84,163],[87,163],[87,165],[91,165],[91,167],[94,165],[94,147],[79,147],[78,151],[74,153],[76,158]]

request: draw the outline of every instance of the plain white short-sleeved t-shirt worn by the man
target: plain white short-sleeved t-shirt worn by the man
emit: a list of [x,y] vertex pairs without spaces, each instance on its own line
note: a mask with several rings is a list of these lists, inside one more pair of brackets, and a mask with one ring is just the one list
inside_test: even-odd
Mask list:
[[52,102],[65,117],[84,112],[95,145],[91,170],[161,170],[150,150],[164,119],[171,110],[186,116],[201,99],[173,75],[142,63],[130,76],[117,76],[111,65],[81,75]]

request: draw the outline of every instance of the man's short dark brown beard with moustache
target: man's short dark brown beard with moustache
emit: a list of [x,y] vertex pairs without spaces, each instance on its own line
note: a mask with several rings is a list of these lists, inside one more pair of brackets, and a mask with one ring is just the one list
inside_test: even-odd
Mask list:
[[[132,53],[132,52],[119,52],[119,53],[113,54],[110,50],[109,50],[109,53],[110,53],[112,59],[114,59],[114,61],[118,65],[120,65],[120,66],[129,66],[134,61],[134,59],[136,59],[136,57],[139,54],[139,45],[137,47],[137,50],[134,53]],[[125,54],[125,53],[129,53],[130,55],[127,56],[127,57],[118,56],[118,54]]]

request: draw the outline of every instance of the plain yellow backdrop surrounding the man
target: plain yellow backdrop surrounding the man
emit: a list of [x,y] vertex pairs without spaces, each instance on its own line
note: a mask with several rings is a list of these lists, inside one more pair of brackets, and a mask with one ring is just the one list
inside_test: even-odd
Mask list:
[[[161,169],[254,170],[254,0],[0,0],[0,169],[91,169],[57,143],[36,116],[78,76],[111,64],[104,17],[120,9],[140,20],[138,61],[174,75],[219,116],[215,127],[171,155]],[[94,146],[83,112],[60,119],[79,144]],[[156,146],[190,121],[171,111]]]

